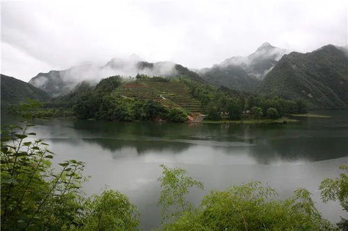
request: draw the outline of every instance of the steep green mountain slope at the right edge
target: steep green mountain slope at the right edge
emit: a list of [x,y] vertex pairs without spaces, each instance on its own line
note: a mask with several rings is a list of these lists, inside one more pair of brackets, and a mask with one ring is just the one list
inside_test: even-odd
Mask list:
[[304,99],[310,108],[347,108],[347,55],[333,45],[284,55],[262,80],[258,92]]

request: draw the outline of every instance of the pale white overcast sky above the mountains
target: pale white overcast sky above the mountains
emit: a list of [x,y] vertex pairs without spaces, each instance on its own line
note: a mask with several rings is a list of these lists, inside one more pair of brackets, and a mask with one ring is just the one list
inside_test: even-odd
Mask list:
[[136,53],[210,67],[263,42],[294,51],[347,44],[347,3],[331,1],[1,1],[1,73],[28,81]]

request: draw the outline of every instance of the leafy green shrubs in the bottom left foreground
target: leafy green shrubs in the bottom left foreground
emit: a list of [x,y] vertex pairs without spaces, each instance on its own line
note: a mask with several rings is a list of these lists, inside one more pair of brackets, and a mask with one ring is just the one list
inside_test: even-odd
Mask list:
[[98,230],[136,230],[138,213],[126,196],[109,190],[84,198],[84,162],[68,160],[54,171],[54,154],[29,139],[31,126],[1,132],[1,230],[90,230],[93,214],[103,223]]

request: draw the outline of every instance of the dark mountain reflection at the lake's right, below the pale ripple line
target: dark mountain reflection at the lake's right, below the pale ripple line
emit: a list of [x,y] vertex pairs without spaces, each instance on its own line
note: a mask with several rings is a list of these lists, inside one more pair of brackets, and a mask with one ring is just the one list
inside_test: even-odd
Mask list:
[[226,148],[229,155],[248,153],[259,164],[320,161],[348,155],[347,138],[259,139],[254,146]]

